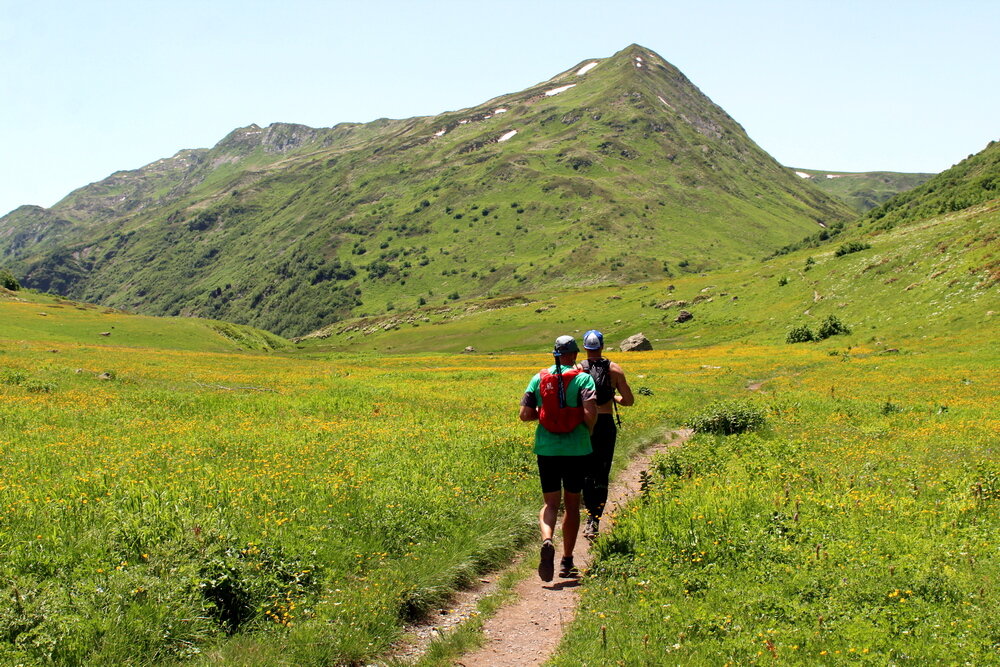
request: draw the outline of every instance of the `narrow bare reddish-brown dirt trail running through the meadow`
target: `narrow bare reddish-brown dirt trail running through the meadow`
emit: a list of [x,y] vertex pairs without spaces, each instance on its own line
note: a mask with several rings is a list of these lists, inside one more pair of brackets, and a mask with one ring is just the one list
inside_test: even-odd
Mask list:
[[[691,436],[691,431],[670,433],[668,442],[648,447],[632,459],[628,467],[615,478],[608,493],[608,509],[601,521],[601,531],[612,529],[615,514],[640,492],[642,473],[649,467],[654,454],[667,447],[678,447]],[[582,523],[582,522],[581,522]],[[557,539],[560,536],[557,531]],[[556,542],[556,560],[562,553]],[[538,558],[529,552],[525,558]],[[590,564],[589,543],[579,537],[575,562],[581,570]],[[521,581],[516,588],[516,600],[501,608],[486,621],[483,634],[486,643],[478,650],[456,660],[464,667],[520,667],[540,665],[555,651],[563,629],[573,620],[579,599],[579,579],[560,579],[549,583],[537,577]]]

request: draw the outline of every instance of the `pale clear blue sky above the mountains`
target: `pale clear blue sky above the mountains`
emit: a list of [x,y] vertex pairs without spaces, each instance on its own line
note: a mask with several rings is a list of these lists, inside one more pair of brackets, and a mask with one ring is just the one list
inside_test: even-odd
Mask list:
[[230,130],[437,114],[636,42],[781,163],[938,172],[1000,138],[1000,2],[0,0],[0,214]]

